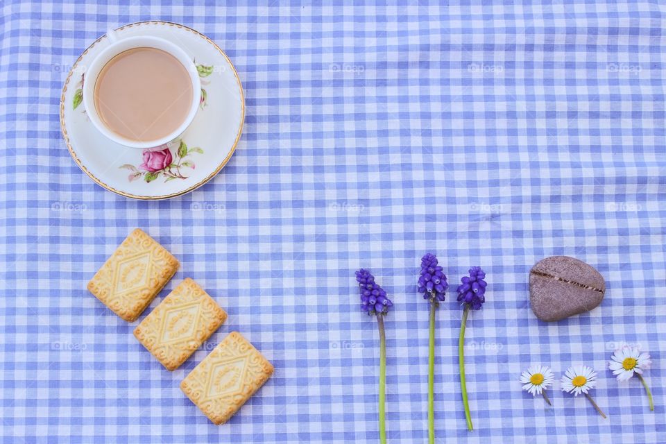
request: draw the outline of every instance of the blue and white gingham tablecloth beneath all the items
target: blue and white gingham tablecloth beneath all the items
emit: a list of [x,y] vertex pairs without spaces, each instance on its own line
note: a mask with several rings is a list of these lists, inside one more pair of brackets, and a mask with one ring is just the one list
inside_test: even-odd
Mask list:
[[[666,440],[663,3],[185,3],[2,3],[3,443],[375,443],[378,334],[359,310],[360,267],[395,304],[389,441],[423,443],[428,306],[416,275],[427,251],[452,289],[477,264],[490,285],[468,325],[472,433],[454,293],[437,313],[438,442]],[[146,19],[212,37],[247,105],[227,167],[160,202],[94,185],[58,122],[79,53]],[[189,276],[230,315],[173,373],[135,340],[136,323],[85,290],[135,227],[182,262],[150,309]],[[533,316],[529,268],[549,255],[599,269],[600,308],[559,323]],[[275,375],[216,427],[179,384],[233,330]],[[636,379],[618,384],[606,369],[624,343],[651,352],[654,412]],[[537,363],[557,377],[592,366],[608,419],[558,383],[552,408],[521,391],[520,372]]]

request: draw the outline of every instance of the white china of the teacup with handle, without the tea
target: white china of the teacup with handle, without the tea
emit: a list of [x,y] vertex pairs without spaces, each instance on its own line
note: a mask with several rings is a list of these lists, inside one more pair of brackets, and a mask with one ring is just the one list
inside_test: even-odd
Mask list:
[[[109,31],[107,36],[110,45],[103,49],[103,51],[101,51],[101,53],[99,53],[94,58],[94,60],[92,60],[85,72],[85,85],[83,86],[83,105],[85,106],[85,111],[90,121],[92,121],[92,124],[95,126],[95,128],[97,128],[97,130],[99,130],[100,133],[105,135],[105,137],[108,137],[108,139],[111,139],[117,144],[130,146],[132,148],[162,148],[164,144],[169,144],[170,142],[178,139],[182,133],[185,133],[185,130],[187,130],[187,127],[189,127],[189,125],[192,123],[194,117],[196,116],[196,112],[199,109],[199,92],[201,90],[201,83],[196,66],[194,65],[194,61],[187,55],[187,53],[185,53],[185,51],[180,48],[180,46],[160,37],[137,36],[117,39],[113,31]],[[160,139],[138,141],[128,139],[127,137],[123,137],[122,135],[114,133],[114,131],[110,130],[110,128],[105,125],[97,112],[94,93],[95,83],[99,77],[99,74],[105,65],[110,62],[110,60],[112,60],[112,58],[130,49],[146,47],[161,49],[162,51],[165,51],[171,54],[171,56],[175,57],[182,64],[182,66],[187,69],[187,73],[189,74],[189,78],[192,82],[193,94],[192,103],[189,105],[189,112],[187,113],[187,117],[180,124],[180,126],[176,128],[176,130],[173,130],[173,132],[164,137],[161,137]]]

